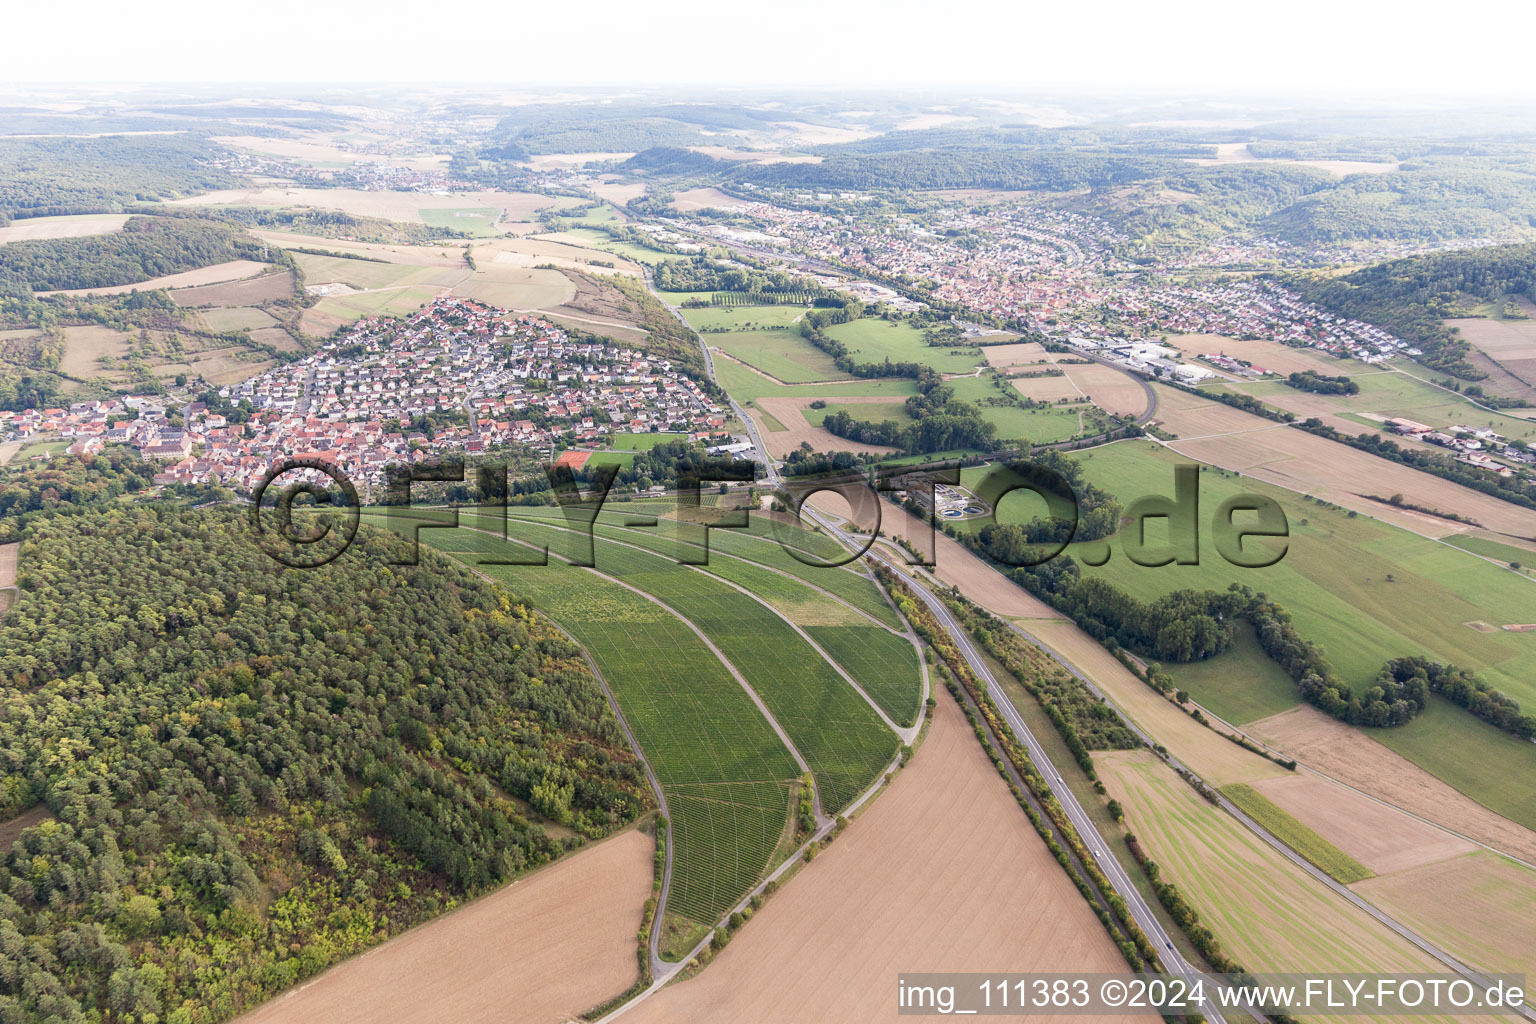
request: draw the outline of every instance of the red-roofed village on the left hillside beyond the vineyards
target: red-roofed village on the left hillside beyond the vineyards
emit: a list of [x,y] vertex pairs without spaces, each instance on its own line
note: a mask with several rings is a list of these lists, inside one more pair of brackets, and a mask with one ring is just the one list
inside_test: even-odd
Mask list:
[[0,438],[49,431],[71,438],[71,453],[132,445],[166,461],[160,484],[238,490],[295,457],[361,485],[379,482],[387,465],[445,453],[604,447],[616,433],[731,441],[728,413],[668,361],[462,298],[406,321],[358,321],[319,352],[218,396],[215,408],[126,398],[0,413]]

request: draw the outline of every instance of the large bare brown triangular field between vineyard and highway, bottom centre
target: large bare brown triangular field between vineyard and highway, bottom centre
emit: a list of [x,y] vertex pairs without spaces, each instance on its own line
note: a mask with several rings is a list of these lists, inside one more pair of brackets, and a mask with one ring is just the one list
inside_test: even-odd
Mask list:
[[935,700],[928,738],[891,788],[703,973],[625,1024],[897,1021],[900,970],[1126,970],[954,699],[940,688]]

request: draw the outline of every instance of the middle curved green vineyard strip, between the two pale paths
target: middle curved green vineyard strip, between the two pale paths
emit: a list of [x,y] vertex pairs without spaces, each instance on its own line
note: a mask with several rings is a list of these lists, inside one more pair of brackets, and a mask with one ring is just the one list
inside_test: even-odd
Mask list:
[[[541,540],[541,531],[556,540],[571,536],[516,522],[519,533]],[[644,548],[594,539],[598,545],[608,563],[604,576],[637,580],[642,591],[700,626],[723,657],[743,669],[753,680],[751,689],[813,766],[828,812],[846,806],[883,772],[897,748],[895,732],[885,726],[866,694],[843,686],[842,672],[828,656],[806,643],[777,609],[707,573],[684,576],[674,562]]]

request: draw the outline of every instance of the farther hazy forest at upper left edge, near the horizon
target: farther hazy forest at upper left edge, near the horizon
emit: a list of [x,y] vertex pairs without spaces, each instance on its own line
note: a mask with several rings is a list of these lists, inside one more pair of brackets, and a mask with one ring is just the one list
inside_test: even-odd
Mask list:
[[224,150],[192,135],[0,140],[0,224],[77,213],[233,184],[209,164]]

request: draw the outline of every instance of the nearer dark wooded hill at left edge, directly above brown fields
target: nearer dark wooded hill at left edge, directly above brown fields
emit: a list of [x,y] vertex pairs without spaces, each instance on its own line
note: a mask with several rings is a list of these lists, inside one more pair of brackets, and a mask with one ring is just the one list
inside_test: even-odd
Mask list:
[[261,253],[260,241],[220,221],[131,216],[112,235],[0,246],[0,278],[12,290],[109,289]]

